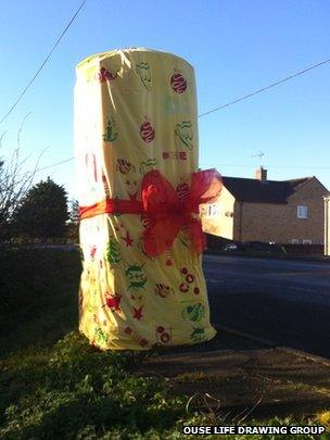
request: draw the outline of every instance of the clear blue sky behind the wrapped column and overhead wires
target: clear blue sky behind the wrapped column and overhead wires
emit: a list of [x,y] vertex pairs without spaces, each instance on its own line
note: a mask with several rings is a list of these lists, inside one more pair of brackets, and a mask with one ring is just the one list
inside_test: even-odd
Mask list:
[[[0,118],[50,51],[80,0],[0,0]],[[1,124],[0,155],[21,136],[39,167],[73,156],[75,65],[101,51],[147,47],[195,68],[199,113],[330,58],[328,0],[87,0],[36,81]],[[330,63],[200,118],[200,166],[253,177],[259,151],[269,179],[317,176],[330,189]],[[75,197],[74,162],[49,168]]]

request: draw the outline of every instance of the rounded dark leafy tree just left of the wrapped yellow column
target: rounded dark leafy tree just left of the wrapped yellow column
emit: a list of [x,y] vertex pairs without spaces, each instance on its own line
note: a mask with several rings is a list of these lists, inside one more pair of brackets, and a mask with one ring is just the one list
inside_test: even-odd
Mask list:
[[30,238],[64,237],[67,219],[66,191],[50,177],[29,189],[14,214],[16,234]]

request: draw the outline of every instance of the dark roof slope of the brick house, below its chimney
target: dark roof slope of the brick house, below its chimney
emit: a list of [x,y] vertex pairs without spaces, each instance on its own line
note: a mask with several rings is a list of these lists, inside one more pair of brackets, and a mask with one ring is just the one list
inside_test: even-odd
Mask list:
[[288,198],[300,190],[313,177],[294,180],[246,179],[241,177],[223,177],[224,186],[240,202],[285,204]]

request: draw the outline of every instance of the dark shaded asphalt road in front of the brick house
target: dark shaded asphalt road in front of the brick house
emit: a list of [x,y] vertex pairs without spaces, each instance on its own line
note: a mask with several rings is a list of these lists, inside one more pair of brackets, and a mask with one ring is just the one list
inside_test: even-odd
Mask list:
[[330,264],[204,255],[211,319],[330,359]]

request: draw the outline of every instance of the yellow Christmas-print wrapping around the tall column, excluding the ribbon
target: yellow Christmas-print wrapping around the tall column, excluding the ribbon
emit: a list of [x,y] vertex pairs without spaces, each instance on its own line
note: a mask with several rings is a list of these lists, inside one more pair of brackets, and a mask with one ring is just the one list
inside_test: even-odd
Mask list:
[[[79,205],[137,200],[158,169],[183,198],[198,169],[195,80],[185,60],[147,49],[100,53],[77,66],[75,153]],[[100,349],[149,350],[214,337],[201,257],[180,231],[164,254],[143,250],[145,218],[80,223],[79,329]]]

